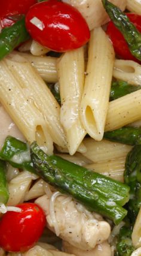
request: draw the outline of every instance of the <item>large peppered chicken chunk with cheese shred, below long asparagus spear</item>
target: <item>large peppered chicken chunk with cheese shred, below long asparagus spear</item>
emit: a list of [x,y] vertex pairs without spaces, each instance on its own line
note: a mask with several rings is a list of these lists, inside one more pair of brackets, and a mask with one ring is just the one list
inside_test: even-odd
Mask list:
[[35,201],[45,211],[47,226],[70,245],[91,250],[108,239],[111,227],[102,216],[88,212],[67,195],[54,192]]

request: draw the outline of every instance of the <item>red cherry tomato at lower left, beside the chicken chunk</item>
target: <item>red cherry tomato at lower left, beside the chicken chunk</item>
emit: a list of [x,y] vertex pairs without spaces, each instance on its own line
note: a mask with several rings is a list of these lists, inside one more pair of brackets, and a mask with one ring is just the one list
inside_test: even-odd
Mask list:
[[35,203],[17,205],[22,212],[7,212],[0,222],[0,246],[5,251],[26,251],[38,241],[45,227],[45,215]]

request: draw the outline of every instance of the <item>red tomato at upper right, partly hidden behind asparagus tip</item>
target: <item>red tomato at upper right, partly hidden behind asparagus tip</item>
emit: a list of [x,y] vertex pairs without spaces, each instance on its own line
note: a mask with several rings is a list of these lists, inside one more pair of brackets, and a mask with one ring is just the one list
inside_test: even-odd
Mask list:
[[[136,26],[136,28],[141,32],[141,16],[134,13],[127,13],[130,21]],[[115,53],[122,59],[130,59],[139,62],[133,55],[131,55],[128,49],[128,44],[126,43],[121,32],[115,27],[114,23],[111,21],[108,23],[107,34],[111,38],[113,43]]]

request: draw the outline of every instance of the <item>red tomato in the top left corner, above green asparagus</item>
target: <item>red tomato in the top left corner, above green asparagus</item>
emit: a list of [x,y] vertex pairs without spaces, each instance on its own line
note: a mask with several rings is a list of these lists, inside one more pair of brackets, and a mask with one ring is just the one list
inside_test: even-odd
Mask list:
[[2,0],[0,7],[2,28],[13,25],[16,22],[15,17],[19,14],[26,14],[30,6],[36,2],[37,0]]

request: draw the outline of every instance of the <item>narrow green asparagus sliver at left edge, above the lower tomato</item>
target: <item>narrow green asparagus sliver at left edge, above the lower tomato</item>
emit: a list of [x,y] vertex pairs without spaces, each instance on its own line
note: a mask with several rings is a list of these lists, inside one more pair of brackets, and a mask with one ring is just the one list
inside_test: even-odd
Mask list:
[[7,179],[5,177],[5,162],[0,161],[0,203],[6,204],[9,198]]

